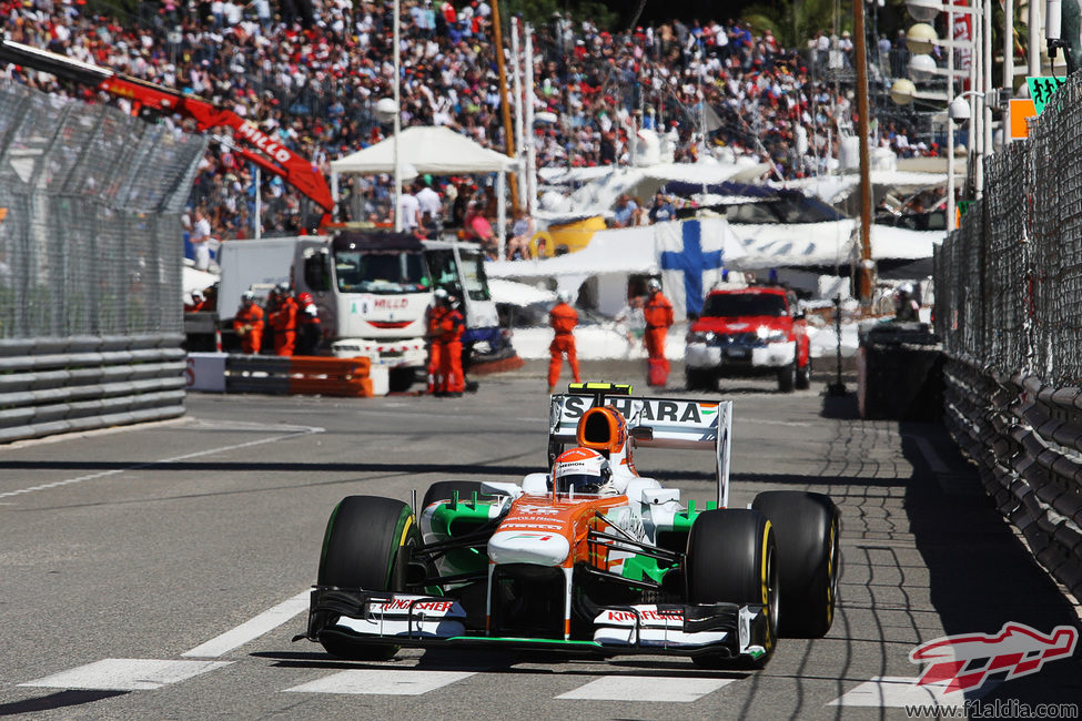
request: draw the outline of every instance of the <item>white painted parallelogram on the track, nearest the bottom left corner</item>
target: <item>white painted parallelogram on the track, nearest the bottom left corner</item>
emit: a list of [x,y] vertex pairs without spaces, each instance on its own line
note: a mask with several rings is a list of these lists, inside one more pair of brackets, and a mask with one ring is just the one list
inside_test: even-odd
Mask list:
[[231,662],[103,659],[19,686],[91,691],[149,691],[213,671]]

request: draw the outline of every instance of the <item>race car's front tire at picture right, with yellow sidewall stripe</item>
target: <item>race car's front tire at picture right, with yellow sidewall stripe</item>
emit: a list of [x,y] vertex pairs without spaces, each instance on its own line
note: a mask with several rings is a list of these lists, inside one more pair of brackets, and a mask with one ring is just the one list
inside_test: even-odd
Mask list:
[[[688,534],[688,603],[756,603],[766,607],[766,653],[750,662],[766,666],[778,638],[778,563],[773,529],[757,510],[731,508],[699,514]],[[696,656],[697,666],[718,668],[727,659]]]

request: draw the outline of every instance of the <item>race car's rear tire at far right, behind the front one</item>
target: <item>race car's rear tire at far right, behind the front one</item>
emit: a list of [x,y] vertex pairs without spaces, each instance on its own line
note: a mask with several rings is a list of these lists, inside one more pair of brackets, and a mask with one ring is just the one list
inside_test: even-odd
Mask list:
[[838,508],[822,494],[799,490],[761,492],[751,508],[770,519],[778,541],[781,634],[826,636],[838,600]]

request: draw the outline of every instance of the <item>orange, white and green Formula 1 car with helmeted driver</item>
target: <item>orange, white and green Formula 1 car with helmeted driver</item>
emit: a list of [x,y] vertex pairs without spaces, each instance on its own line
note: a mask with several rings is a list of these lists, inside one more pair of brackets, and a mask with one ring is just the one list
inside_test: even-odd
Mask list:
[[[439,481],[416,514],[391,498],[343,499],[294,640],[353,660],[495,647],[761,668],[779,632],[827,633],[835,504],[782,490],[728,508],[731,402],[629,394],[573,384],[552,396],[549,471],[520,484]],[[639,476],[640,447],[714,450],[717,500],[685,506]]]

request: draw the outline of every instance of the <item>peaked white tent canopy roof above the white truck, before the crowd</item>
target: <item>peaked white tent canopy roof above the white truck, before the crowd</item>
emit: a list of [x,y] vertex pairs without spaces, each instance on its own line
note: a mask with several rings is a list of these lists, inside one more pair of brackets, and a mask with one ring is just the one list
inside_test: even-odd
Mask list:
[[[514,171],[513,158],[475,143],[449,128],[406,128],[398,134],[398,158],[417,173],[454,175]],[[340,175],[394,172],[394,139],[388,138],[352,155],[332,161]]]

